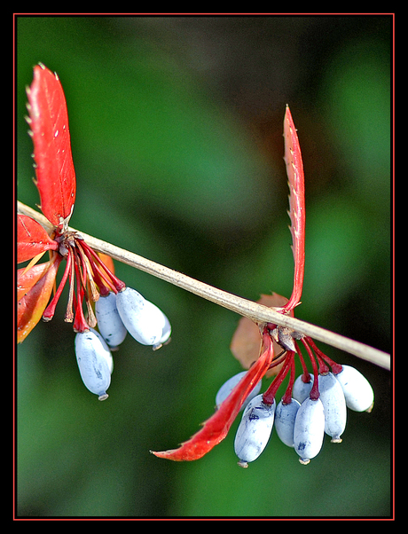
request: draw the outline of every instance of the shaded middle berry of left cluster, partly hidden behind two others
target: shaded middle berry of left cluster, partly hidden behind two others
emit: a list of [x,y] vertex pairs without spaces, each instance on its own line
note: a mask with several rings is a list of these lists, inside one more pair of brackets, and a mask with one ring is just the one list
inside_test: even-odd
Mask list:
[[123,325],[121,316],[116,307],[116,294],[110,292],[100,296],[95,302],[95,315],[98,321],[98,330],[110,347],[117,347],[126,337],[128,331]]

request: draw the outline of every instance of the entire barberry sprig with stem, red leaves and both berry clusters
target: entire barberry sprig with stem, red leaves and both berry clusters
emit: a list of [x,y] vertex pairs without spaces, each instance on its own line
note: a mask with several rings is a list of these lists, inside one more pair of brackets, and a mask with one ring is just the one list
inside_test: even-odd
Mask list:
[[[70,228],[68,223],[75,206],[75,169],[67,104],[58,75],[43,64],[35,66],[27,98],[35,185],[43,216],[19,202],[18,263],[29,263],[17,276],[18,342],[27,337],[41,318],[51,320],[68,282],[65,320],[73,323],[76,333],[75,353],[82,381],[99,400],[105,400],[113,370],[111,349],[123,341],[127,332],[153,349],[169,342],[171,333],[164,313],[114,275],[112,259],[119,260],[243,316],[232,338],[231,351],[247,372],[231,377],[219,389],[216,412],[199,432],[179,448],[153,452],[155,456],[200,459],[224,439],[242,410],[234,444],[241,467],[247,467],[263,452],[273,426],[283,443],[294,447],[302,464],[318,454],[325,433],[333,443],[341,443],[347,407],[357,412],[371,411],[373,389],[357,369],[334,362],[318,349],[312,338],[385,368],[389,368],[389,355],[294,318],[304,273],[305,195],[302,154],[289,107],[286,106],[284,139],[294,288],[289,299],[269,294],[259,302],[251,302]],[[45,253],[50,255],[49,260],[38,263]],[[63,261],[65,269],[55,288]],[[311,373],[301,346],[309,357]],[[302,365],[302,375],[297,379],[295,357],[299,357]],[[259,393],[263,377],[272,375],[275,378],[269,388]],[[288,385],[277,402],[286,375]]]

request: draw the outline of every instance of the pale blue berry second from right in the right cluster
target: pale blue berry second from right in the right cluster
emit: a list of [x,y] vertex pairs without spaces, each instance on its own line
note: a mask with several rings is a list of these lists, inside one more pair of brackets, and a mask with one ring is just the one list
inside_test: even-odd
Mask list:
[[346,428],[347,407],[343,390],[333,373],[319,374],[318,391],[325,410],[325,432],[333,443],[341,443]]

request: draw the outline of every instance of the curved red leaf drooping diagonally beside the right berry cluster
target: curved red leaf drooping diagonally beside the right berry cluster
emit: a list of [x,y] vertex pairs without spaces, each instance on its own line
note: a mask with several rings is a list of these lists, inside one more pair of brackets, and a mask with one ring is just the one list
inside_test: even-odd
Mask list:
[[248,394],[254,389],[255,384],[260,381],[271,365],[273,348],[269,334],[263,336],[263,342],[264,347],[266,347],[263,354],[256,360],[255,364],[252,365],[235,388],[232,389],[230,395],[224,400],[224,403],[221,404],[216,413],[205,421],[203,428],[184,444],[181,444],[178,449],[162,452],[152,451],[155,456],[175,461],[200,459],[224,439]]

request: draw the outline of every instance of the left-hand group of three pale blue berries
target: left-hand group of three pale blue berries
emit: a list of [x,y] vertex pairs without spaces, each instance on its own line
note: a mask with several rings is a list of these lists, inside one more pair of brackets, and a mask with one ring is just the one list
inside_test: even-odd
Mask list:
[[99,400],[105,400],[114,370],[110,349],[116,349],[128,332],[137,342],[159,349],[169,342],[171,326],[157,306],[130,287],[101,295],[95,314],[99,332],[93,328],[78,332],[75,353],[83,383]]

